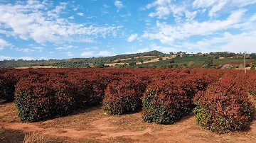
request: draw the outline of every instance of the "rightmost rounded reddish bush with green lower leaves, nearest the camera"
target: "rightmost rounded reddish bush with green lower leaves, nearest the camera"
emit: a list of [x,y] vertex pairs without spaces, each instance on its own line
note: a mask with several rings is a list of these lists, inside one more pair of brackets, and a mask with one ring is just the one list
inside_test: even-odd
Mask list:
[[241,130],[252,120],[247,92],[232,80],[220,80],[199,91],[193,99],[196,122],[211,132]]

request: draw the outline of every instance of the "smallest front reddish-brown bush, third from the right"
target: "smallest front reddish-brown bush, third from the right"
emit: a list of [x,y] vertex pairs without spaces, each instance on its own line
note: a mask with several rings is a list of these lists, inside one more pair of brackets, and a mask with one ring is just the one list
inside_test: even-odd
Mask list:
[[140,97],[145,86],[132,77],[112,81],[107,86],[103,99],[104,110],[112,115],[139,110],[142,107]]

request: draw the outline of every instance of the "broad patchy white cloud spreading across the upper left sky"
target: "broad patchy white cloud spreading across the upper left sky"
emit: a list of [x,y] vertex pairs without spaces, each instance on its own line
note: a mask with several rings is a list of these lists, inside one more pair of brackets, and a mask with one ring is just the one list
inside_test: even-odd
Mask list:
[[[0,33],[22,40],[35,40],[39,44],[53,42],[95,42],[97,38],[115,37],[122,26],[71,23],[70,18],[60,18],[67,3],[50,7],[42,3],[16,3],[0,5]],[[52,10],[50,10],[52,9]],[[66,13],[66,12],[65,12]],[[6,30],[4,29],[6,28]],[[7,30],[8,29],[8,30]]]

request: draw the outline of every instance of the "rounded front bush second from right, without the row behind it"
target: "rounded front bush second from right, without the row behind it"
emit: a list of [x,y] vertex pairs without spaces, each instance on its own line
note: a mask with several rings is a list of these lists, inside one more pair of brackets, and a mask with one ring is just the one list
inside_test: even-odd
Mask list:
[[183,80],[186,81],[186,79],[158,81],[147,87],[142,98],[142,118],[146,122],[173,124],[191,111],[194,91],[188,82],[181,85]]

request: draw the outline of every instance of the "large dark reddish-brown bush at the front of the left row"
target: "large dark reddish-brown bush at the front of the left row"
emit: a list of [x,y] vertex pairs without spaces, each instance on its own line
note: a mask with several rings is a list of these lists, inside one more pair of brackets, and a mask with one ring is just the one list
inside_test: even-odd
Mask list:
[[32,75],[18,81],[15,103],[23,122],[44,120],[53,115],[65,115],[75,108],[73,84],[58,75]]

